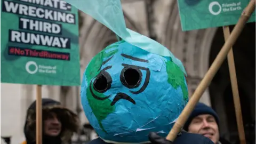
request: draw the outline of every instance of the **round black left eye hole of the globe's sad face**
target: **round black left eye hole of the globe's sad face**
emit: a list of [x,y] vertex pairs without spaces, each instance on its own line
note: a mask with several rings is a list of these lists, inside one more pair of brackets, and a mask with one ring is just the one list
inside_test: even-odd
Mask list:
[[112,83],[111,76],[106,72],[100,73],[93,82],[93,88],[95,91],[104,93],[110,89]]

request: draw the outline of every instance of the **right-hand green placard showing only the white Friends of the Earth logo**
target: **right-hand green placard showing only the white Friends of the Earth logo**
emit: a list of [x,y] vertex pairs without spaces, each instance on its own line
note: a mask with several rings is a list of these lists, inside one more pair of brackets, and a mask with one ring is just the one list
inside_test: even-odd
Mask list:
[[[235,25],[250,0],[178,0],[183,31]],[[248,22],[255,21],[255,11]]]

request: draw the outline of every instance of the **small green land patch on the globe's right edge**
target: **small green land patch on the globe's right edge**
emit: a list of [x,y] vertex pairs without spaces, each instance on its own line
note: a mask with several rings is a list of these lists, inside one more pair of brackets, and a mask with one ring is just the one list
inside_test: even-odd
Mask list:
[[178,89],[178,87],[181,86],[183,99],[188,101],[188,91],[182,70],[172,60],[165,62],[165,64],[168,83],[171,84],[174,89]]

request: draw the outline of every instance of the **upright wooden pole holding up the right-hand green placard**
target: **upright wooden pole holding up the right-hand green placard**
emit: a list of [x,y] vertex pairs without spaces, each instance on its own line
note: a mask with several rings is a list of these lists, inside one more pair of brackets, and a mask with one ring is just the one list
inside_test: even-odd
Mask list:
[[[223,27],[223,34],[224,34],[225,41],[227,41],[228,37],[230,36],[230,30],[229,30],[228,26]],[[238,135],[239,135],[240,143],[246,144],[245,134],[244,134],[243,117],[242,117],[242,112],[241,112],[241,104],[240,104],[237,78],[236,78],[236,67],[235,67],[235,61],[234,61],[232,47],[231,47],[230,51],[228,52],[228,68],[229,68],[230,81],[231,81],[231,87],[232,87],[232,92],[233,92],[233,100],[234,100],[234,106],[235,106],[235,112],[236,112]]]

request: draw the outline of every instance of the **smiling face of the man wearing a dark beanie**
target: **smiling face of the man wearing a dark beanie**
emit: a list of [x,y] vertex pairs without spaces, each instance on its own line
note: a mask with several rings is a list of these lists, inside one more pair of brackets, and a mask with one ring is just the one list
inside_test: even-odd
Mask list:
[[189,127],[188,132],[202,134],[211,139],[214,143],[219,141],[219,128],[212,115],[205,114],[195,117]]

